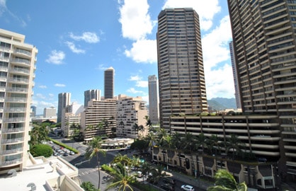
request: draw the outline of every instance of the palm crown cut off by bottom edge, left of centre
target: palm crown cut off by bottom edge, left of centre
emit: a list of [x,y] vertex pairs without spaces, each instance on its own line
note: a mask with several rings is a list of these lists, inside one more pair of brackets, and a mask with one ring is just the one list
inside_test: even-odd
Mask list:
[[125,191],[127,188],[131,191],[133,191],[130,184],[135,183],[135,175],[129,175],[127,171],[125,170],[125,166],[123,166],[121,163],[118,163],[115,168],[113,168],[114,171],[112,173],[113,175],[113,183],[108,185],[107,189],[118,187],[118,190]]

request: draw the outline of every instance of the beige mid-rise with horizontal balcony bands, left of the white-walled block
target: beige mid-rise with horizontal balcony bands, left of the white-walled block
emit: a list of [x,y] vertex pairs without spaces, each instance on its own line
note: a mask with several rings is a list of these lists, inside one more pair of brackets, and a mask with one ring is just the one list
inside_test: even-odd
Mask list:
[[81,131],[85,141],[96,136],[115,137],[116,100],[90,100],[81,112]]

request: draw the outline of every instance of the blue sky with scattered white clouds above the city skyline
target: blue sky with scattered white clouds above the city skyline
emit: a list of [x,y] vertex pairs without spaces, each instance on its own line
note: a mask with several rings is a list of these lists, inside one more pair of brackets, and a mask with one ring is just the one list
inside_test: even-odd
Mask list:
[[115,96],[148,100],[148,76],[157,76],[157,16],[166,7],[198,12],[207,98],[234,98],[225,0],[0,0],[0,28],[38,48],[33,105],[42,114],[57,108],[62,92],[81,105],[86,90],[103,95],[103,71],[110,66]]

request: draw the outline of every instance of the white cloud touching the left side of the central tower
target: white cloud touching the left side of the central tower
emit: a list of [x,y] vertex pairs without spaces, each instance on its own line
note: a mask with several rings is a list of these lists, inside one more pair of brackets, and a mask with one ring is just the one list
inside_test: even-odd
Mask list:
[[137,40],[132,43],[130,50],[125,50],[125,55],[132,58],[135,62],[156,63],[157,45],[156,40]]

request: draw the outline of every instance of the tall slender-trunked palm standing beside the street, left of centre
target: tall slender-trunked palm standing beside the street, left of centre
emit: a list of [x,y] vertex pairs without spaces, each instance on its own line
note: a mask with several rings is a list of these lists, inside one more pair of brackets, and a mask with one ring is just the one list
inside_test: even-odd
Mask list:
[[89,147],[86,149],[85,157],[88,159],[93,158],[96,156],[96,161],[98,163],[98,189],[100,189],[101,184],[101,175],[100,175],[100,158],[98,154],[101,153],[106,156],[106,151],[101,149],[103,144],[103,140],[101,137],[93,137],[93,139],[89,142]]

